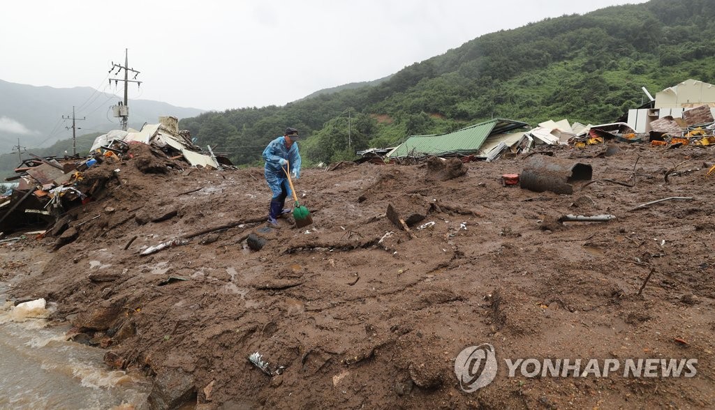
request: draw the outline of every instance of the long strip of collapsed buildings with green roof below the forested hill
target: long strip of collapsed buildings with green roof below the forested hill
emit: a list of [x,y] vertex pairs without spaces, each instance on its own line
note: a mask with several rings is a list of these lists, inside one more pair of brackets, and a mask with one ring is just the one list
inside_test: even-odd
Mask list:
[[544,121],[534,128],[511,119],[491,119],[445,134],[413,135],[389,149],[358,152],[359,162],[413,163],[429,156],[457,157],[463,162],[494,161],[526,154],[538,146],[621,142],[715,144],[715,86],[689,79],[656,94],[649,103],[608,124],[571,124],[568,119]]

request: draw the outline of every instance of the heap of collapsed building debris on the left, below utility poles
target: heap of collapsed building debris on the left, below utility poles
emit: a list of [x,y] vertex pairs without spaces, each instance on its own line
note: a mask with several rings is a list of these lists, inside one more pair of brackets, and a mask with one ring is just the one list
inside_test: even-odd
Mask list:
[[[142,156],[137,167],[143,172],[161,174],[169,169],[203,167],[234,168],[227,153],[202,151],[189,131],[178,129],[173,116],[159,118],[159,124],[144,124],[142,129],[114,130],[97,137],[86,157],[31,155],[15,169],[17,181],[9,196],[0,196],[0,232],[9,233],[29,226],[54,224],[66,211],[102,196],[109,179],[121,181],[121,164]],[[117,164],[112,175],[94,175],[93,166]]]

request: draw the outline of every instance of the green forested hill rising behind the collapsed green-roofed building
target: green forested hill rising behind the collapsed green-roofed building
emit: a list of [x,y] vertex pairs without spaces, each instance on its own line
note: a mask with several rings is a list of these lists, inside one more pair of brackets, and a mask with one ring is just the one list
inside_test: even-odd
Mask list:
[[715,1],[651,0],[480,36],[374,86],[209,112],[181,126],[237,164],[257,164],[267,142],[293,126],[310,136],[299,143],[304,161],[335,161],[492,116],[613,121],[641,105],[641,86],[653,94],[689,78],[713,83],[714,67]]

